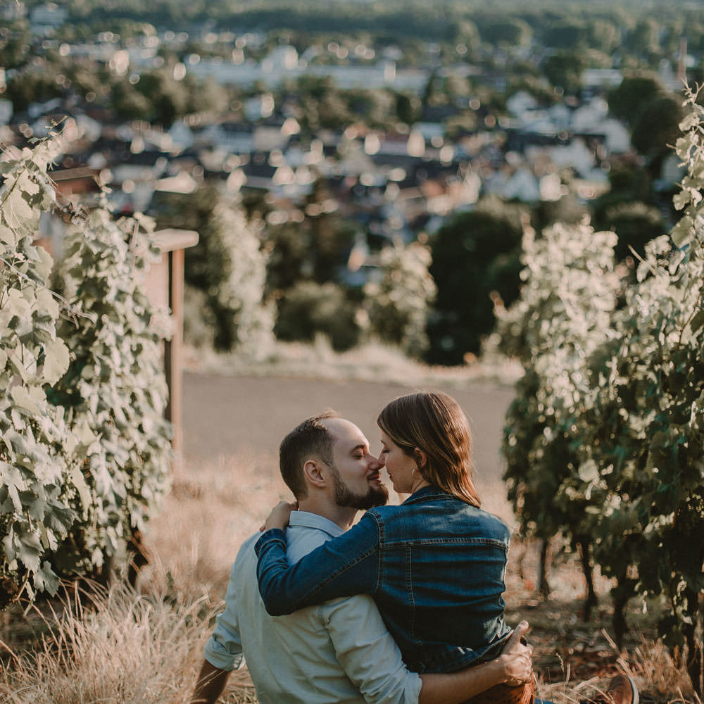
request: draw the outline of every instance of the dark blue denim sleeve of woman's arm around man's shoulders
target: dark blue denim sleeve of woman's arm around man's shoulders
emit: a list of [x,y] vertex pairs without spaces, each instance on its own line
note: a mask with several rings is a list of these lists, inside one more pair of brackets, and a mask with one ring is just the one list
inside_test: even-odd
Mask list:
[[369,513],[344,535],[327,541],[295,565],[289,565],[284,533],[277,528],[260,536],[254,549],[259,558],[259,593],[272,616],[338,596],[373,594],[377,589],[379,527]]

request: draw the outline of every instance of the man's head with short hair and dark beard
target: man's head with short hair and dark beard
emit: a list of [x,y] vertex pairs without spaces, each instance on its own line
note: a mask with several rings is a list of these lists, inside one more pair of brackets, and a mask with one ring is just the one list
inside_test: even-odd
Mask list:
[[303,421],[279,447],[281,476],[298,501],[320,490],[345,508],[383,505],[379,467],[363,432],[334,411]]

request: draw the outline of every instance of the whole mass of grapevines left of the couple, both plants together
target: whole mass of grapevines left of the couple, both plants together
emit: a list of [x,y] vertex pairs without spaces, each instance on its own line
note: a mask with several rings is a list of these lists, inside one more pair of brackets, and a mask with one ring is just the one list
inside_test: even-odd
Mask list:
[[[142,290],[149,223],[115,222],[104,202],[58,206],[47,166],[59,146],[0,163],[0,606],[95,576],[168,486],[160,337]],[[63,295],[35,242],[49,213],[67,222]]]

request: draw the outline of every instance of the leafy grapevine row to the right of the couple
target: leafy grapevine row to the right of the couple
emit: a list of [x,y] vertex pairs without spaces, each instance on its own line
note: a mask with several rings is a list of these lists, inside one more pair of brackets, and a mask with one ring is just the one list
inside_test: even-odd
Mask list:
[[[674,198],[682,217],[669,237],[646,245],[636,281],[622,280],[619,306],[612,270],[597,251],[584,249],[584,260],[562,259],[555,276],[551,258],[558,253],[546,256],[548,235],[543,245],[527,247],[520,301],[499,314],[504,347],[519,353],[526,368],[504,444],[510,496],[524,528],[589,539],[594,560],[615,580],[617,641],[631,598],[643,608],[660,600],[660,636],[684,654],[701,695],[704,111],[698,93],[686,92],[676,146],[687,168]],[[559,249],[582,246],[576,241],[572,235]]]

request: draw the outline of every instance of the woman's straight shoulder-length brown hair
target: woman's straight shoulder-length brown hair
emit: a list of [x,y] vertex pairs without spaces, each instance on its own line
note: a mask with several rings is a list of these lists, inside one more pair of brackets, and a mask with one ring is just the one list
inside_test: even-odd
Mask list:
[[377,425],[409,457],[427,455],[422,477],[461,501],[479,507],[472,482],[472,433],[467,416],[447,394],[420,391],[387,404]]

